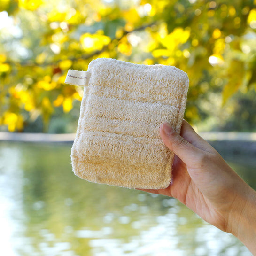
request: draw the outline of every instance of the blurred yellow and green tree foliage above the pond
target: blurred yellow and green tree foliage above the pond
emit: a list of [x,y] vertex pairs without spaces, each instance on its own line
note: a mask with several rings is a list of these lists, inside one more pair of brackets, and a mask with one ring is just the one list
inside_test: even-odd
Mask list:
[[0,0],[0,11],[0,125],[11,132],[78,117],[82,89],[65,76],[99,57],[186,71],[194,124],[225,120],[230,98],[256,88],[256,0]]

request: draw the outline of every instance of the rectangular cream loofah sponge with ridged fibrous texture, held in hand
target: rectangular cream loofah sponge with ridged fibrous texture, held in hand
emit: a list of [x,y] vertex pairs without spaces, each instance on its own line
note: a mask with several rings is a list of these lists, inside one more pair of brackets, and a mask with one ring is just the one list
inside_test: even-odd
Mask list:
[[168,122],[180,132],[186,73],[106,58],[93,60],[87,73],[71,152],[75,174],[129,188],[169,186],[174,154],[163,144],[159,127]]

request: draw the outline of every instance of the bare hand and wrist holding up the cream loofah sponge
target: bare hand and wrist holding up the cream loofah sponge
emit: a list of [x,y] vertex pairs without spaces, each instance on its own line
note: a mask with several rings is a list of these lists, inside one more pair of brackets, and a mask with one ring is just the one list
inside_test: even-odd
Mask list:
[[[142,190],[177,198],[210,224],[236,235],[256,254],[256,192],[185,120],[180,135],[167,123],[161,125],[160,135],[175,153],[172,181],[165,189]],[[255,225],[248,245],[244,240],[249,213]]]

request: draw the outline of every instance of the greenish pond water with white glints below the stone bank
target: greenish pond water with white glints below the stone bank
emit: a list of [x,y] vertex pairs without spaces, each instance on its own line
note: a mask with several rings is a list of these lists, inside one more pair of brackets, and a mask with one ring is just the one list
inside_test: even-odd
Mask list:
[[[70,148],[0,143],[0,255],[252,255],[173,198],[76,177]],[[253,163],[229,163],[256,189]]]

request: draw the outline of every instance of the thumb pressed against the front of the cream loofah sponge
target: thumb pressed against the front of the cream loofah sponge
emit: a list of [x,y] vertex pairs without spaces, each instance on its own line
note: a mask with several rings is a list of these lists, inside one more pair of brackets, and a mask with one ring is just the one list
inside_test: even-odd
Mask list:
[[194,147],[181,137],[168,123],[161,124],[160,135],[165,146],[177,155],[186,165],[195,163],[196,159],[202,155],[201,149]]

